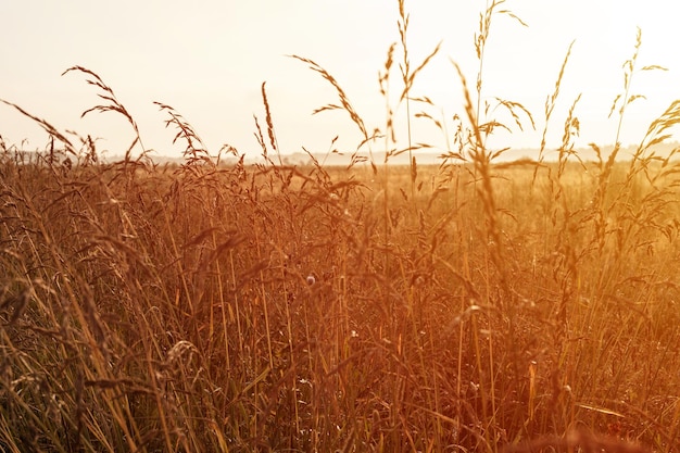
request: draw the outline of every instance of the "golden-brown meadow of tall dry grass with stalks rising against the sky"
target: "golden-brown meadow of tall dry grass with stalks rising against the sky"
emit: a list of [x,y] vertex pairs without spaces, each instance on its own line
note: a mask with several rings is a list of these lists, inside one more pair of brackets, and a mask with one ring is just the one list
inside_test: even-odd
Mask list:
[[[480,63],[501,3],[480,17]],[[380,88],[427,104],[411,90],[437,49],[411,65],[399,7]],[[621,124],[632,74],[654,68],[637,67],[640,45],[613,106]],[[581,160],[569,111],[554,160],[543,142],[502,162],[486,142],[509,126],[479,113],[480,64],[476,87],[461,74],[450,147],[421,166],[423,143],[392,140],[396,106],[372,135],[341,84],[298,59],[338,95],[319,112],[363,134],[347,166],[284,164],[264,85],[256,164],[210,152],[165,104],[186,151],[154,163],[80,66],[68,71],[103,101],[84,114],[114,112],[135,133],[115,162],[2,101],[51,146],[0,140],[1,450],[677,451],[680,167],[657,147],[680,101],[626,159],[593,144]],[[396,154],[411,165],[390,165]]]

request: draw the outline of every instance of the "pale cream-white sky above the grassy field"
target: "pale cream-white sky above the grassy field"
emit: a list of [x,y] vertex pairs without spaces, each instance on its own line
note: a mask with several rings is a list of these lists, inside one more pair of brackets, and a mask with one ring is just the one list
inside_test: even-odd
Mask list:
[[[474,35],[486,5],[484,0],[406,0],[412,65],[442,41],[413,92],[437,104],[430,114],[450,118],[463,113],[461,84],[450,59],[474,87]],[[559,144],[563,122],[578,93],[577,144],[615,140],[616,121],[607,114],[621,92],[621,65],[632,54],[637,26],[642,29],[639,66],[658,64],[669,71],[634,76],[633,93],[647,99],[631,105],[621,141],[639,142],[650,122],[680,98],[680,3],[675,0],[507,0],[502,8],[528,27],[507,15],[494,17],[482,98],[522,103],[538,130],[499,134],[494,146],[538,148],[545,98],[572,40],[549,147]],[[312,115],[314,109],[337,102],[335,90],[287,55],[308,58],[331,73],[373,130],[385,124],[377,74],[390,43],[399,40],[396,0],[5,0],[0,2],[0,99],[61,130],[100,137],[98,147],[108,150],[106,155],[124,152],[133,133],[115,113],[79,118],[98,98],[83,75],[61,76],[71,66],[98,73],[136,118],[146,148],[162,155],[178,156],[184,143],[171,144],[175,130],[164,128],[166,115],[153,101],[174,106],[211,152],[229,143],[242,153],[259,154],[253,114],[264,124],[263,81],[284,152],[302,147],[326,151],[337,135],[336,146],[353,151],[361,136],[345,113]],[[399,61],[399,52],[395,58]],[[395,71],[394,92],[401,89],[399,79]],[[403,118],[405,110],[396,115]],[[499,119],[508,122],[506,116]],[[429,124],[416,119],[415,128],[414,141],[443,147]],[[398,134],[405,138],[403,127]],[[8,144],[26,139],[23,147],[29,150],[43,149],[47,142],[38,126],[4,104],[0,135]]]

